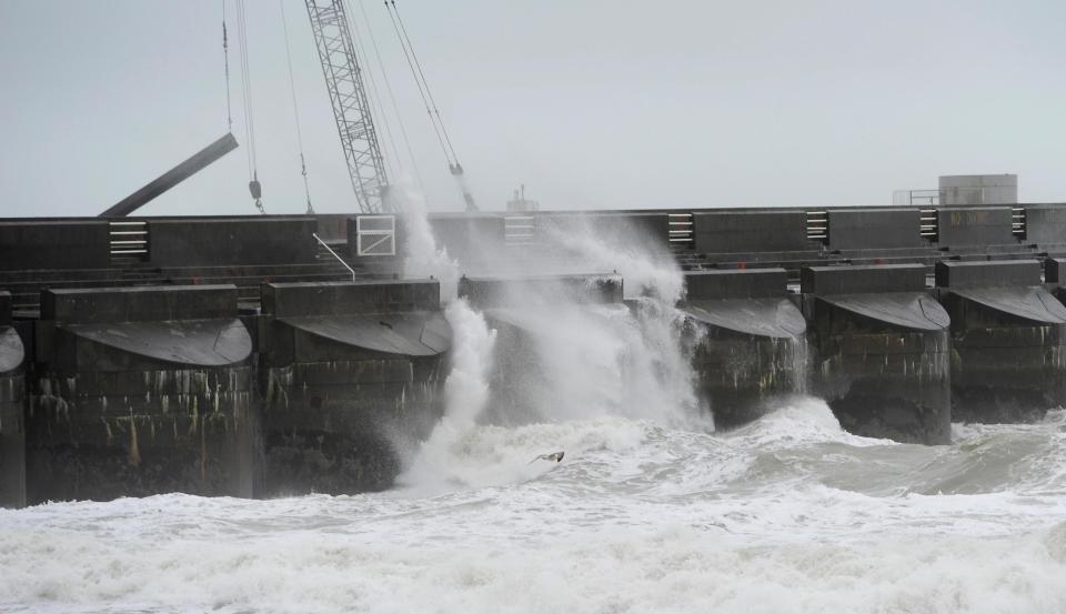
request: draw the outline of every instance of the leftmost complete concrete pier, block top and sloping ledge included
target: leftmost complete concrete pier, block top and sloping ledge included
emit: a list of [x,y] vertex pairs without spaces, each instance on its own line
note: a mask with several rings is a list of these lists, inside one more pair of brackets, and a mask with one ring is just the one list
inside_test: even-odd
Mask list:
[[49,290],[37,348],[30,503],[252,495],[252,343],[234,286]]

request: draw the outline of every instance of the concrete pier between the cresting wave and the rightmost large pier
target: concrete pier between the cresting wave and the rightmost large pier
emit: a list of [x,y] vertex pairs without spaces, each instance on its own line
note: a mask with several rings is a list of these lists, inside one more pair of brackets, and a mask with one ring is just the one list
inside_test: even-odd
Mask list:
[[948,326],[919,264],[807,268],[814,392],[849,432],[951,441]]

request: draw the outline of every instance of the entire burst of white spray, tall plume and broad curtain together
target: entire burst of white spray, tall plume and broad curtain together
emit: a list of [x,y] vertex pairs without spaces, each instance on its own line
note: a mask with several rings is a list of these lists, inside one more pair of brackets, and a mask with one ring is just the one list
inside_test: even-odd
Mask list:
[[[424,202],[411,190],[394,198],[403,202],[405,274],[432,274],[442,282],[444,300],[454,299],[460,264],[439,249]],[[691,358],[700,331],[676,309],[684,278],[668,253],[657,253],[648,242],[628,240],[627,234],[625,229],[607,234],[580,225],[546,229],[541,248],[564,256],[564,262],[555,261],[565,269],[559,272],[615,271],[624,279],[628,304],[589,304],[580,290],[551,284],[546,291],[543,285],[520,291],[511,323],[519,321],[522,331],[505,335],[506,355],[496,361],[490,360],[489,340],[494,338],[484,319],[474,318],[465,303],[449,308],[455,355],[445,414],[414,454],[401,484],[466,482],[461,474],[469,474],[470,467],[461,466],[455,447],[479,423],[519,425],[619,415],[713,431],[710,413],[694,392]],[[526,254],[536,260],[536,268],[530,260],[515,260],[513,252],[476,256],[491,263],[492,270],[484,273],[521,278],[540,270],[537,253]]]

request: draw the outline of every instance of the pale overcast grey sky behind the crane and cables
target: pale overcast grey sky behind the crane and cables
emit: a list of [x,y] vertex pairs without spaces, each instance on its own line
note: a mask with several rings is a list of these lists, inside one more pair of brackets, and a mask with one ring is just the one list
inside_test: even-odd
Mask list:
[[[388,13],[363,1],[430,208],[459,210]],[[353,211],[306,11],[284,2],[311,197]],[[888,204],[990,172],[1017,172],[1020,200],[1066,200],[1062,0],[398,7],[484,209],[519,183],[550,209]],[[0,0],[0,214],[97,214],[222,135],[221,14],[221,0]],[[248,0],[263,200],[299,213],[281,23],[276,0]],[[230,64],[241,149],[143,213],[254,212],[233,48]]]

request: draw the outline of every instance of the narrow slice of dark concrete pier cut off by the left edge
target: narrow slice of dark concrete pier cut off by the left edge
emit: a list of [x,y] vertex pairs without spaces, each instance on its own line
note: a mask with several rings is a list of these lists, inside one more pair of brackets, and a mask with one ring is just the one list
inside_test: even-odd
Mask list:
[[11,294],[0,292],[0,507],[26,505],[24,361]]

